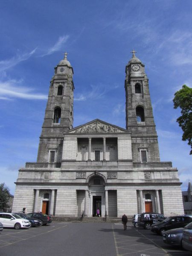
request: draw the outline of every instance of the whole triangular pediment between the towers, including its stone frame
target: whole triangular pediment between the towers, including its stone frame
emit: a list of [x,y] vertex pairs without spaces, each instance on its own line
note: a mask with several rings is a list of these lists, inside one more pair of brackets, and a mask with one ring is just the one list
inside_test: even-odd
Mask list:
[[66,131],[66,132],[64,132],[64,134],[66,134],[66,133],[78,133],[78,134],[79,133],[82,133],[82,134],[86,134],[86,133],[125,133],[125,132],[128,132],[128,131],[119,126],[111,125],[102,120],[95,119],[95,120],[88,122],[84,125],[79,125],[73,129],[71,129],[70,131]]

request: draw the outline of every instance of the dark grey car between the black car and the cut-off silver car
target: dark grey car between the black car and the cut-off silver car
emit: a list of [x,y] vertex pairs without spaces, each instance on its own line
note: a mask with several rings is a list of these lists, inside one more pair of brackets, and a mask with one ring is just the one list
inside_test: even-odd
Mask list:
[[185,227],[174,228],[163,232],[163,242],[166,244],[182,246],[184,230],[192,230],[192,222],[187,224]]

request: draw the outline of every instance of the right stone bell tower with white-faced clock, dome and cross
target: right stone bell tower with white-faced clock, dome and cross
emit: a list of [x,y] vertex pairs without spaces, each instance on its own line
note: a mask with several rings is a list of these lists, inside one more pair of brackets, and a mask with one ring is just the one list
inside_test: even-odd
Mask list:
[[145,65],[131,52],[125,68],[126,129],[132,133],[134,162],[160,161]]

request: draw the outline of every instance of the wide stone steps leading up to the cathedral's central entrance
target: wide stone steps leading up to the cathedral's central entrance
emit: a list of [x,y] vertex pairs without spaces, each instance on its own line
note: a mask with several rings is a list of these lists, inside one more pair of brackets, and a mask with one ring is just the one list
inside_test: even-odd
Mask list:
[[[121,223],[121,218],[117,217],[63,217],[63,216],[53,216],[52,221],[62,221],[62,222],[107,222],[107,223]],[[128,216],[128,222],[132,221],[132,217]]]

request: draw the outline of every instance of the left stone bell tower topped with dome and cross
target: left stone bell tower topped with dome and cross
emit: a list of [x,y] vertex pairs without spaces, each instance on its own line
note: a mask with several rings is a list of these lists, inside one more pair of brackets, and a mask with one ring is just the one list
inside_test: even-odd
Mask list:
[[38,162],[60,163],[63,132],[73,128],[73,67],[68,53],[55,67],[42,126]]

